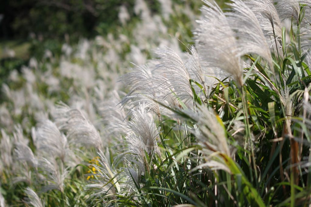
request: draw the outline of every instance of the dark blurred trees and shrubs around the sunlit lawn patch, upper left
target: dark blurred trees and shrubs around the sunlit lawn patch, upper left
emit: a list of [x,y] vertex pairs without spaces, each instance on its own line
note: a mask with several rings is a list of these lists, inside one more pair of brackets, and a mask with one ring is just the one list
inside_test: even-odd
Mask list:
[[[146,3],[151,12],[159,12],[157,0]],[[46,49],[58,54],[65,41],[74,44],[81,37],[114,32],[122,25],[118,21],[121,6],[126,7],[131,21],[137,19],[134,5],[135,0],[1,0],[0,44],[8,45],[7,40],[14,45],[30,43],[24,52],[27,57],[40,59]]]

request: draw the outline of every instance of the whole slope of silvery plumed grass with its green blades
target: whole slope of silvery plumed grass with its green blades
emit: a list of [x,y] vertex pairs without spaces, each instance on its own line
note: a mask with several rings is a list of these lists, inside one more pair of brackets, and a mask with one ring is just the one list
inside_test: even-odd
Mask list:
[[311,205],[311,1],[169,2],[10,74],[1,207]]

